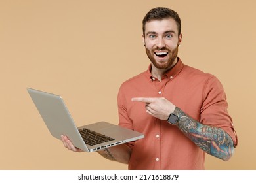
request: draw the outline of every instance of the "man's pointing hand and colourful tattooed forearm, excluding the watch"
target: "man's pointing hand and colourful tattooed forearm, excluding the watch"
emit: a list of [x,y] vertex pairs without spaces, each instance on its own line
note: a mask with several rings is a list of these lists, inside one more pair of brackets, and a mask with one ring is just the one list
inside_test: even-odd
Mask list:
[[[164,97],[137,97],[133,98],[132,101],[144,102],[146,112],[160,120],[167,120],[169,114],[175,110],[175,105]],[[186,137],[208,154],[224,161],[228,161],[231,158],[234,152],[234,142],[223,129],[203,125],[187,116],[182,110],[176,125]]]

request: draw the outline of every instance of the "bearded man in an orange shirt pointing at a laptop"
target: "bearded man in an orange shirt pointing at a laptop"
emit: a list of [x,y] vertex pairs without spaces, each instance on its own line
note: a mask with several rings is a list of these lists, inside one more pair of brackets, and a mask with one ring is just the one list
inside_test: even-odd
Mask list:
[[[143,20],[148,70],[124,82],[117,97],[119,125],[144,139],[99,151],[129,169],[204,169],[205,152],[228,161],[237,137],[221,82],[182,63],[181,20],[154,8]],[[74,152],[68,137],[64,146]]]

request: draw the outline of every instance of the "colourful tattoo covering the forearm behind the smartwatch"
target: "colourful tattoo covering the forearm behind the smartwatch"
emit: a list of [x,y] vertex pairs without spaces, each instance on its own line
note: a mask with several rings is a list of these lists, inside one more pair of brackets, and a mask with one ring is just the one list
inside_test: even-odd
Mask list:
[[208,154],[224,161],[231,158],[234,144],[231,137],[223,129],[203,125],[187,116],[182,110],[177,126],[186,137]]

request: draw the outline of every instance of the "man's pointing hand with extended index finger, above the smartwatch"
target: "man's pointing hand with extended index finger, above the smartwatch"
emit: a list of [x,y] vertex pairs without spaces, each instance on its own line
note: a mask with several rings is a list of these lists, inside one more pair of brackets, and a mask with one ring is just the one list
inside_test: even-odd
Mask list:
[[175,105],[164,97],[137,97],[131,100],[144,102],[146,112],[160,120],[167,120],[171,112],[175,110]]

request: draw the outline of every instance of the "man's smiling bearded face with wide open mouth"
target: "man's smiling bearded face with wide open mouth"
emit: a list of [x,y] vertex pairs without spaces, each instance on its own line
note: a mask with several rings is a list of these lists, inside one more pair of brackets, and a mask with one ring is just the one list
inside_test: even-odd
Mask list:
[[181,38],[173,18],[146,22],[144,44],[154,67],[167,70],[175,65]]

